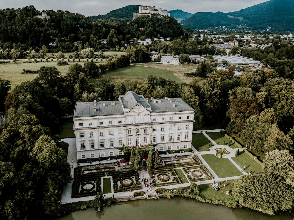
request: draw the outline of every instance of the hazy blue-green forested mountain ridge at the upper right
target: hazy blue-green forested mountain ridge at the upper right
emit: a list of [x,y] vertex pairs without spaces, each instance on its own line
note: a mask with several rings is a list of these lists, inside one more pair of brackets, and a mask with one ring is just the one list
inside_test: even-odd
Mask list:
[[230,13],[198,12],[183,23],[184,27],[192,29],[219,26],[235,28],[246,24],[249,29],[255,30],[271,26],[277,31],[290,31],[294,28],[293,20],[293,0],[270,0]]

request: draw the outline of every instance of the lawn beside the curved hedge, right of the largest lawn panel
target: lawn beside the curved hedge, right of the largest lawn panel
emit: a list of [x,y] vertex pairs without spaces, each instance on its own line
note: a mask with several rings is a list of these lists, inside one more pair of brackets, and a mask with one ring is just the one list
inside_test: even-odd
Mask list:
[[[241,154],[240,154],[241,153]],[[232,157],[233,161],[236,162],[241,168],[244,166],[247,167],[245,172],[248,171],[251,174],[261,173],[261,166],[254,161],[248,154],[245,152],[239,152],[238,157]]]

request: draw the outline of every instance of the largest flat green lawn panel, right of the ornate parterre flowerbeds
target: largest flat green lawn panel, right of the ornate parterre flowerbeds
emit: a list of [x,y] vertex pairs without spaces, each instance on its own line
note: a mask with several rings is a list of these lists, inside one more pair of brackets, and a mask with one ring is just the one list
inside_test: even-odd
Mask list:
[[219,178],[243,175],[228,158],[218,158],[214,154],[203,154],[201,156]]

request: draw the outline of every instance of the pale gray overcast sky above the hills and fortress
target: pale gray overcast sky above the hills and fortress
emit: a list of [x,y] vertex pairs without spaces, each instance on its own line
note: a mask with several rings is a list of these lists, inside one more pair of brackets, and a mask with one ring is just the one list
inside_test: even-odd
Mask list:
[[245,9],[255,4],[260,4],[268,0],[0,0],[0,8],[23,8],[33,5],[39,11],[42,10],[63,10],[85,16],[107,14],[109,11],[132,4],[153,6],[166,9],[168,11],[181,9],[192,14],[202,11],[232,12]]

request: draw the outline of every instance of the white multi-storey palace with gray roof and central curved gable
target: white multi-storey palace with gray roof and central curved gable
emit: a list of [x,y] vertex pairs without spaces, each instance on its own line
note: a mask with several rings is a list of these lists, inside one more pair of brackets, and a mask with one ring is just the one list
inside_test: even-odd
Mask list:
[[118,101],[78,102],[77,159],[123,155],[122,146],[159,151],[191,148],[194,109],[181,98],[150,99],[128,91]]

